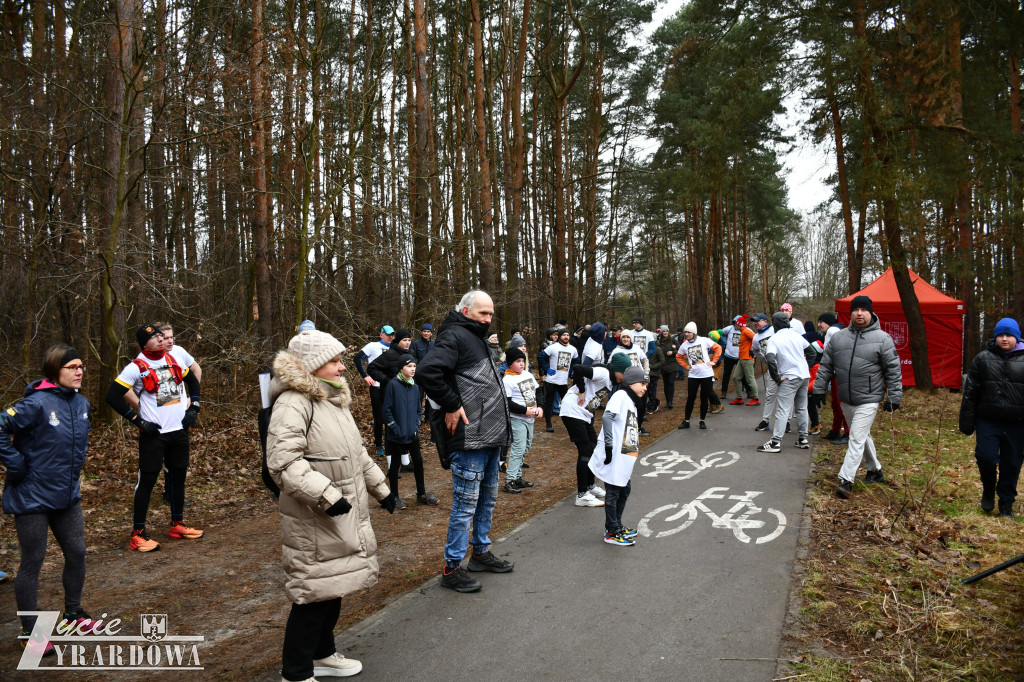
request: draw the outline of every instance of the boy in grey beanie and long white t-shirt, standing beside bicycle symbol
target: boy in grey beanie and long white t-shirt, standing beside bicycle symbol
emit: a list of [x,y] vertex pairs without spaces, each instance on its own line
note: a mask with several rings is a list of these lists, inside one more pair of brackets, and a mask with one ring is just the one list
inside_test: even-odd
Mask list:
[[601,433],[590,458],[590,470],[607,483],[604,497],[604,542],[629,547],[635,544],[636,528],[623,525],[623,509],[630,497],[630,477],[640,456],[639,406],[647,393],[647,373],[638,367],[626,368],[623,388],[612,393],[604,408]]

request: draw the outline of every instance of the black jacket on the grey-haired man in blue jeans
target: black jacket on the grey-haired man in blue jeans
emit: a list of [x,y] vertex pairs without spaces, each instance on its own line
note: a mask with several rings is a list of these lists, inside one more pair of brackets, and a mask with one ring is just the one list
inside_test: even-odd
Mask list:
[[416,380],[442,411],[466,411],[447,441],[450,451],[504,447],[511,424],[505,388],[490,361],[487,325],[455,310],[437,332],[437,343],[416,370]]

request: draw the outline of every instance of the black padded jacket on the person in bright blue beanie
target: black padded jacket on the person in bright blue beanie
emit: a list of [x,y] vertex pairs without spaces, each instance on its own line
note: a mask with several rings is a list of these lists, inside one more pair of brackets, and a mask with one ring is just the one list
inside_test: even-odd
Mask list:
[[1004,353],[988,340],[974,356],[964,378],[959,430],[971,435],[978,418],[993,422],[1024,422],[1024,343]]

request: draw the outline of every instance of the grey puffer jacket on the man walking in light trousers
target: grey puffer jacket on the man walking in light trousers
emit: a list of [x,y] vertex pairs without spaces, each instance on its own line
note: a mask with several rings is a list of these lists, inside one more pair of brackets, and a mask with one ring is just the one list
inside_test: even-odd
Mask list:
[[899,354],[891,336],[882,331],[879,318],[864,328],[850,325],[840,330],[825,346],[814,380],[814,393],[824,394],[836,377],[839,399],[847,404],[881,402],[889,391],[895,404],[903,399],[903,375]]

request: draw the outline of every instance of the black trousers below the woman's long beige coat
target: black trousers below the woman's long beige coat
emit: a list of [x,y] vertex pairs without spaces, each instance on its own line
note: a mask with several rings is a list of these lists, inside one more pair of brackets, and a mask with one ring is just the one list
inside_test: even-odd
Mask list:
[[327,658],[337,651],[334,627],[341,613],[341,597],[309,604],[292,604],[285,626],[285,647],[281,655],[281,675],[286,680],[308,680],[313,676],[313,660]]

